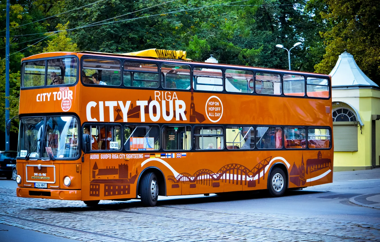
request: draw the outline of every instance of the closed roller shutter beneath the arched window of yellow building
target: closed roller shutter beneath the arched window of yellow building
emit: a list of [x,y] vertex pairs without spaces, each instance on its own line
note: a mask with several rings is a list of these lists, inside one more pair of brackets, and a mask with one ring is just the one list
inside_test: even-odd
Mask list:
[[358,151],[358,127],[333,125],[334,151]]

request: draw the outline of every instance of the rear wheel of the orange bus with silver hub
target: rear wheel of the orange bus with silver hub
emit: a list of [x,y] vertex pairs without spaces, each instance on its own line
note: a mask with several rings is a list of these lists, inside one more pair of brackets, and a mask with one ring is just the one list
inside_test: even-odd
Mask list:
[[268,177],[268,191],[273,197],[282,196],[287,187],[288,181],[284,171],[281,168],[274,168]]

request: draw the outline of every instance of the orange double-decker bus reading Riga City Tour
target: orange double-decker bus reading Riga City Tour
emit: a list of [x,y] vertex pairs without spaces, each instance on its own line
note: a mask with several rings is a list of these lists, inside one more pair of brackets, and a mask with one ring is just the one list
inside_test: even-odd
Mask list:
[[154,206],[158,195],[329,183],[331,105],[328,75],[158,49],[33,55],[22,60],[17,196]]

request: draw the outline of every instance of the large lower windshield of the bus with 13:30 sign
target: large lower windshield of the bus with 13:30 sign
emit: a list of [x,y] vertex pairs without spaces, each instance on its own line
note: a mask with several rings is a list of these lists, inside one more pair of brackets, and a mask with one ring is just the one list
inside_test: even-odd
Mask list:
[[21,118],[17,156],[75,158],[79,155],[79,151],[76,118],[72,116]]

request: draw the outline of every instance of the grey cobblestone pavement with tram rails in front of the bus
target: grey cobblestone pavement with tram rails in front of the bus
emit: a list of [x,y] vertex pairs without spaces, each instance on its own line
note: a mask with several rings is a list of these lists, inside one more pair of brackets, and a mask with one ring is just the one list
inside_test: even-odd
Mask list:
[[0,187],[0,223],[82,241],[380,241],[379,223],[138,202],[19,198]]

